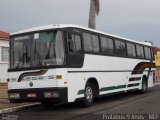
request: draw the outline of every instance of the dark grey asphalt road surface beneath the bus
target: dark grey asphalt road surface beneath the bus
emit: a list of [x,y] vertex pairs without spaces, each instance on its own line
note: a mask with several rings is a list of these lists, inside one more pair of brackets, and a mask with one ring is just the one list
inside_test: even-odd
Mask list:
[[155,86],[146,94],[123,93],[98,98],[89,108],[80,103],[68,103],[44,108],[27,109],[4,114],[0,119],[14,120],[160,120],[160,86]]

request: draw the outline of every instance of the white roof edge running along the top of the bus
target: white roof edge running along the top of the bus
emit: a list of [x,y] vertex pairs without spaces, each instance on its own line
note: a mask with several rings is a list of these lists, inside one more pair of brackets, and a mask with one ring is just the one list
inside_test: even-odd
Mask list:
[[79,25],[73,25],[73,24],[44,25],[44,26],[33,27],[33,28],[21,30],[21,31],[18,31],[18,32],[13,32],[13,33],[11,33],[11,35],[17,35],[17,34],[34,32],[34,31],[41,31],[41,30],[50,30],[50,29],[56,29],[56,28],[69,28],[69,27],[80,28],[80,29],[84,29],[84,30],[88,30],[88,31],[104,34],[104,35],[107,35],[107,36],[123,39],[123,40],[130,41],[130,42],[135,42],[135,43],[139,43],[139,44],[143,44],[143,45],[147,45],[147,46],[152,46],[152,44],[149,43],[149,42],[139,42],[139,41],[136,41],[136,40],[131,40],[131,39],[128,39],[128,38],[120,37],[120,36],[117,36],[117,35],[101,32],[101,31],[98,31],[98,30],[82,27],[82,26],[79,26]]

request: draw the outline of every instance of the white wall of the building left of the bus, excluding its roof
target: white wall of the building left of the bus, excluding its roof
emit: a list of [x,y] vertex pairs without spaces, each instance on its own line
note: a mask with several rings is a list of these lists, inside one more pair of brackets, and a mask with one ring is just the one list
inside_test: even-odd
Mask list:
[[8,62],[2,61],[2,47],[9,47],[9,41],[0,40],[0,82],[7,82]]

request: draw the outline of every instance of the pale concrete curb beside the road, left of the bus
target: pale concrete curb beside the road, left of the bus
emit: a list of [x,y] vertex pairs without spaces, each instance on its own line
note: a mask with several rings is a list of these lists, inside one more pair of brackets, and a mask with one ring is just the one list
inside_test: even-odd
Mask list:
[[27,104],[27,105],[22,105],[22,106],[13,107],[13,108],[2,109],[0,110],[0,114],[6,114],[6,113],[16,112],[24,109],[39,107],[40,105],[41,105],[40,103],[34,103],[34,104]]

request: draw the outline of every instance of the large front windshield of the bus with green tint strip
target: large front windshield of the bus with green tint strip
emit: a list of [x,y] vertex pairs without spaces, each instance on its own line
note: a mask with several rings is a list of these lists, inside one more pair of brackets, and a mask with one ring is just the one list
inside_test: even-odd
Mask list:
[[61,31],[47,31],[11,38],[11,69],[64,64]]

